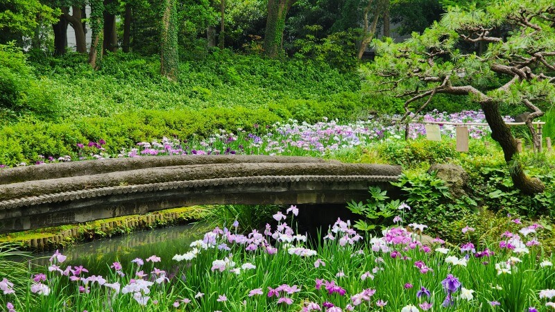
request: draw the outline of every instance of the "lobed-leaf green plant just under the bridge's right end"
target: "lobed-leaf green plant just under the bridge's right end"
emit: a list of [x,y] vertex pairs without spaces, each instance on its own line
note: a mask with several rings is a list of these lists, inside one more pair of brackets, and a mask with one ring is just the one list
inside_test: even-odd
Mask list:
[[[379,187],[370,187],[368,192],[370,193],[370,198],[366,200],[365,204],[355,202],[354,200],[347,203],[347,208],[353,214],[364,217],[364,219],[357,220],[355,228],[361,231],[375,229],[376,225],[381,225],[382,229],[386,228],[388,225],[391,225],[391,220],[389,219],[398,213],[400,201],[391,200],[386,202],[389,199],[386,195],[387,191],[382,191]],[[368,224],[367,221],[371,221],[372,224]]]

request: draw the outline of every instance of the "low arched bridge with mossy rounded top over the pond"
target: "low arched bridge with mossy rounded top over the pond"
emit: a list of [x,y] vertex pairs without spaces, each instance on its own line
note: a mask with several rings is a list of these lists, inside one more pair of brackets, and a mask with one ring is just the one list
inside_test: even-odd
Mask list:
[[207,204],[345,204],[400,166],[314,157],[180,155],[0,170],[0,233]]

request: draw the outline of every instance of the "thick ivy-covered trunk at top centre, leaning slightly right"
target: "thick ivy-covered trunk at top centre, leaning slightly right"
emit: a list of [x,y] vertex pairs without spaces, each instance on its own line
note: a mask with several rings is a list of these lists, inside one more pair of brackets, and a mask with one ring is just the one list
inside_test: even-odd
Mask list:
[[264,33],[264,53],[275,58],[283,50],[283,31],[289,8],[295,0],[268,0],[268,19]]

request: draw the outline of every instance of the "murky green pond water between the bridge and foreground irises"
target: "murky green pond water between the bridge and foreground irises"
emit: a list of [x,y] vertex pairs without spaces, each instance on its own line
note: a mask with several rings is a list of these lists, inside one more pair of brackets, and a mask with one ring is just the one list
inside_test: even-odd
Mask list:
[[[206,230],[207,226],[203,223],[178,225],[74,245],[60,250],[67,256],[62,268],[68,265],[83,266],[89,270],[90,275],[106,275],[114,261],[119,261],[125,269],[131,260],[144,260],[155,254],[162,258],[162,262],[157,263],[157,268],[169,270],[171,264],[176,263],[171,258],[175,254],[189,251],[190,243],[202,238]],[[53,252],[36,254],[34,256],[37,258],[33,263],[49,266],[52,254]]]

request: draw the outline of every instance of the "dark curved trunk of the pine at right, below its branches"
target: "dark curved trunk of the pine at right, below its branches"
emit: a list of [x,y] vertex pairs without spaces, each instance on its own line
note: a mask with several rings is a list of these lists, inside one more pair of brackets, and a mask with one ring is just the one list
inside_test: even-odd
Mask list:
[[490,101],[488,103],[482,103],[481,108],[484,110],[488,125],[490,125],[492,139],[497,141],[503,149],[505,162],[509,164],[511,179],[515,187],[520,189],[522,193],[528,195],[543,192],[545,185],[536,177],[528,177],[526,173],[524,173],[522,164],[515,158],[515,156],[518,155],[516,140],[509,127],[503,121],[501,112],[499,112],[499,104]]

